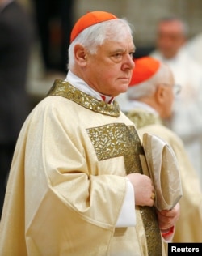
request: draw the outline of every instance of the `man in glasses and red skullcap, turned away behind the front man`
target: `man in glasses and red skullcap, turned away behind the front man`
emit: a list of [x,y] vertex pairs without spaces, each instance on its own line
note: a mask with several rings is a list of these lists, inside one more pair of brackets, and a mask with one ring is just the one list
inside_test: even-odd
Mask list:
[[171,115],[176,92],[172,72],[168,66],[151,57],[137,59],[135,63],[128,87],[131,110],[127,116],[137,126],[141,137],[145,133],[155,134],[169,143],[179,162],[183,197],[179,201],[181,214],[172,241],[201,242],[202,191],[199,177],[182,140],[163,125],[165,118]]

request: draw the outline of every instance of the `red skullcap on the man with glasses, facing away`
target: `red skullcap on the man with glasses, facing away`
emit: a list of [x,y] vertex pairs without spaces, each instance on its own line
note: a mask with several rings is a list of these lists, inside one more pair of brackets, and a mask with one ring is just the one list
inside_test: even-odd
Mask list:
[[133,60],[135,67],[133,69],[132,79],[129,87],[135,86],[138,83],[145,82],[157,73],[160,62],[152,57],[142,57]]

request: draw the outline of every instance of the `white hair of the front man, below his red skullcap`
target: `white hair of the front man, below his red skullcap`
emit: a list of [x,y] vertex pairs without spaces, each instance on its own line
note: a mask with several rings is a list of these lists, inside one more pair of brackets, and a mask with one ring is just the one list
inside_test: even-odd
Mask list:
[[133,35],[132,25],[126,19],[111,19],[84,29],[69,45],[69,69],[74,66],[75,45],[82,45],[90,54],[95,54],[105,40],[119,41],[128,32]]

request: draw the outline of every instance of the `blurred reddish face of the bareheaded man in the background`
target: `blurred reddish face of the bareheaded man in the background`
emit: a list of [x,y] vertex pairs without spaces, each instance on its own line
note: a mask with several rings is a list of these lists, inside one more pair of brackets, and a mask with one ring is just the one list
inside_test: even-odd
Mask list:
[[185,40],[183,25],[179,21],[163,21],[158,24],[157,47],[164,58],[175,57]]

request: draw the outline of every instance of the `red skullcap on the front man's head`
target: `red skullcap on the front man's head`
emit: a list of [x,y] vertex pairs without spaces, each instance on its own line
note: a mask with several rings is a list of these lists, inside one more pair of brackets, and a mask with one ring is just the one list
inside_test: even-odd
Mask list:
[[112,15],[106,11],[92,11],[83,15],[78,21],[75,23],[74,28],[72,29],[70,36],[70,43],[74,41],[74,39],[78,36],[80,32],[82,32],[85,28],[88,28],[97,23],[101,23],[103,21],[118,19],[115,15]]

